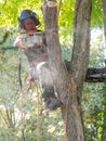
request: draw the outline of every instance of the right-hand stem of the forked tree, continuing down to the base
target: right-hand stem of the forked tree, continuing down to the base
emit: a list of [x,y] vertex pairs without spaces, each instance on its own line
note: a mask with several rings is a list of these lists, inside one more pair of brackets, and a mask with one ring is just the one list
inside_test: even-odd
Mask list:
[[[84,141],[81,115],[81,93],[89,64],[90,21],[91,0],[76,0],[74,49],[70,65],[71,79],[75,81],[76,88],[74,91],[70,91],[70,97],[72,99],[69,99],[69,110],[67,114],[67,131],[69,130],[68,134],[70,134],[70,137],[72,136],[71,141]],[[70,119],[71,124],[69,123]]]

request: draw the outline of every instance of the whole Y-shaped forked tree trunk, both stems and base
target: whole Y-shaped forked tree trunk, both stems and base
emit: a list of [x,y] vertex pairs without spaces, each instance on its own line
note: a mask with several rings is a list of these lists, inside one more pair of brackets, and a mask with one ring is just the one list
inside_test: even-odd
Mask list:
[[[77,0],[75,14],[74,52],[70,72],[67,72],[59,46],[57,8],[55,0],[44,0],[43,18],[45,25],[49,63],[59,100],[65,124],[65,141],[84,141],[81,118],[81,91],[85,78],[90,50],[91,0]],[[70,73],[70,74],[69,74]]]

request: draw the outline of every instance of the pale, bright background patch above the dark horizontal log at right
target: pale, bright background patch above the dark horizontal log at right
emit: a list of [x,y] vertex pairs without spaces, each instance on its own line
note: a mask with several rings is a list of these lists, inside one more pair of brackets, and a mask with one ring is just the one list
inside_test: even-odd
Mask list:
[[103,44],[103,29],[93,29],[91,31],[91,51],[89,67],[104,67],[105,52]]

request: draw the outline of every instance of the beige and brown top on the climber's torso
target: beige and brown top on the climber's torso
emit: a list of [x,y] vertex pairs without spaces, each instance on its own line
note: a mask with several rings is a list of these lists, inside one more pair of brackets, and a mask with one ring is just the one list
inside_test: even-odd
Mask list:
[[37,31],[31,35],[22,34],[15,41],[22,44],[22,50],[25,52],[30,64],[38,64],[48,60],[48,50],[43,31]]

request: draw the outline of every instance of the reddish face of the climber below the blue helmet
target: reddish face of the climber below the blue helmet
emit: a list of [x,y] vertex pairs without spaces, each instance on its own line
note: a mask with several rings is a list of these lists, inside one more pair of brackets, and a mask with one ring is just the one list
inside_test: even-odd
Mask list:
[[24,21],[24,28],[26,31],[35,30],[36,29],[36,23],[32,18],[27,18]]

